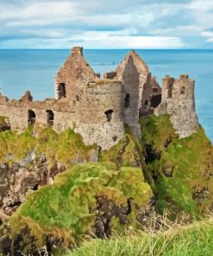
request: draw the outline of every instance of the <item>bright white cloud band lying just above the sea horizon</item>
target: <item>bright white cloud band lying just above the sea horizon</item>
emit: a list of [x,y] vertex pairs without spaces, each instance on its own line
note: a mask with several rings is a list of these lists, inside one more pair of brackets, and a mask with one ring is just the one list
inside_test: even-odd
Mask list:
[[10,40],[3,48],[182,48],[177,37],[116,35],[115,32],[84,32],[63,39]]

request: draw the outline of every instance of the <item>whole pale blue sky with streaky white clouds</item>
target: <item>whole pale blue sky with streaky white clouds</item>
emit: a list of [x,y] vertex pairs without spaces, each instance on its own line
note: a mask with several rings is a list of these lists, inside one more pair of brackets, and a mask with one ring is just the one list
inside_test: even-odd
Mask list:
[[0,0],[0,48],[213,48],[213,0]]

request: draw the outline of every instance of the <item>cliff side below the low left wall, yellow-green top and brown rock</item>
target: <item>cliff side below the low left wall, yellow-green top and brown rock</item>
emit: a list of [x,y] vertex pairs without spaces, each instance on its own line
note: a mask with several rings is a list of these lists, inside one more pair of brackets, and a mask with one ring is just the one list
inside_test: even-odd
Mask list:
[[22,134],[0,132],[0,221],[16,210],[29,191],[53,182],[54,176],[75,163],[97,158],[97,145],[86,146],[70,129],[60,134],[51,128],[36,134],[32,128]]

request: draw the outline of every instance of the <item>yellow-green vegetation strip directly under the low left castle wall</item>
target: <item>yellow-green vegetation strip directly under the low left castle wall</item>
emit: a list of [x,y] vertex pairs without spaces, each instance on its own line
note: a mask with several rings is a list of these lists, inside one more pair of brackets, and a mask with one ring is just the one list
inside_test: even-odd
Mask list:
[[57,161],[72,165],[89,161],[92,150],[96,149],[96,145],[86,146],[81,136],[71,129],[58,134],[47,127],[36,136],[32,128],[21,134],[16,131],[0,132],[1,162],[22,161],[30,151],[34,151],[35,155],[45,154],[50,167]]

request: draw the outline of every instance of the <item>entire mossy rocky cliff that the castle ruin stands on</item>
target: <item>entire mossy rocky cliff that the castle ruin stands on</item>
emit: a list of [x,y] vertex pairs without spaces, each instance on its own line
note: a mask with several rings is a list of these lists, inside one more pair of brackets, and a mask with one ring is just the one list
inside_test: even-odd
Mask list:
[[[127,125],[122,140],[98,157],[95,145],[69,130],[0,133],[2,252],[12,244],[15,252],[55,252],[81,244],[83,234],[102,238],[148,227],[165,211],[171,219],[211,213],[213,149],[204,130],[179,139],[169,116],[141,118],[140,125],[141,140]],[[82,163],[91,160],[99,163]]]

